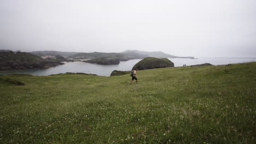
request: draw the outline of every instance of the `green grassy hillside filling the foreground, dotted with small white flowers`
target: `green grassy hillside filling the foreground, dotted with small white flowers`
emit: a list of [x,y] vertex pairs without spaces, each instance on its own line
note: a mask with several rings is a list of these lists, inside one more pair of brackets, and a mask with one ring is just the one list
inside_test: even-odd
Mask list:
[[[256,63],[0,76],[0,143],[255,143]],[[1,82],[1,81],[0,81]]]

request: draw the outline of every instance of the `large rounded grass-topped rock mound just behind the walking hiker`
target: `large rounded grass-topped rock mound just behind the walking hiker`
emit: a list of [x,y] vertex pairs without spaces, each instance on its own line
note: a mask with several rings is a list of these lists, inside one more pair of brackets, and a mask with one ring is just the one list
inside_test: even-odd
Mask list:
[[167,58],[146,57],[132,68],[138,70],[174,67],[174,63]]

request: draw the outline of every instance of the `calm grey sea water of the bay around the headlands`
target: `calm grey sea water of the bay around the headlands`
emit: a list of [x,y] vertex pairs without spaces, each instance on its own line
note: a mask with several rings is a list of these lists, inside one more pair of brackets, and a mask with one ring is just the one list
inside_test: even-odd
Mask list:
[[[202,63],[211,63],[213,65],[223,65],[232,63],[256,62],[256,58],[225,58],[225,57],[199,57],[197,59],[188,58],[168,58],[174,63],[174,67],[183,67],[183,64],[195,65]],[[51,67],[48,69],[29,69],[29,70],[6,70],[0,71],[0,75],[9,74],[29,74],[29,75],[52,75],[60,73],[86,73],[99,76],[109,76],[113,70],[131,70],[133,65],[141,59],[132,59],[130,61],[120,62],[115,65],[100,65],[84,62],[65,62],[64,65]]]

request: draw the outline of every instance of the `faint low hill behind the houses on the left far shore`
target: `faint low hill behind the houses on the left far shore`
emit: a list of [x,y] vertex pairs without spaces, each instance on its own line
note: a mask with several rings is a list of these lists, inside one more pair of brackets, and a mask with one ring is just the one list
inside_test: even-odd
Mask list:
[[62,57],[69,57],[72,55],[75,55],[79,52],[65,52],[65,51],[32,51],[29,52],[33,55],[39,56],[39,57],[43,57],[43,56],[62,56]]

